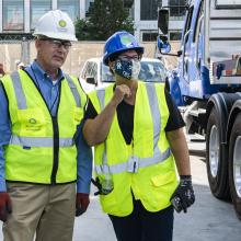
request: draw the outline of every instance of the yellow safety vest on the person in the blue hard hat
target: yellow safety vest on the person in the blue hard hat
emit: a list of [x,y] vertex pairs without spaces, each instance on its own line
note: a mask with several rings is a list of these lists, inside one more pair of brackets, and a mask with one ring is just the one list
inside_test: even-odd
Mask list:
[[[89,94],[100,113],[113,96],[113,84]],[[114,190],[101,195],[105,213],[124,217],[133,211],[133,196],[149,211],[170,206],[177,185],[175,164],[165,137],[169,118],[164,85],[138,82],[131,145],[126,145],[115,113],[105,142],[94,147],[95,174],[111,173]]]

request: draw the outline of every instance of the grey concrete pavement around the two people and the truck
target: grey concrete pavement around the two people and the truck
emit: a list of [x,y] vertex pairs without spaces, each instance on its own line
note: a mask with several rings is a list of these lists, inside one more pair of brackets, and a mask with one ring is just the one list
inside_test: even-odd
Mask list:
[[[175,214],[173,241],[240,241],[241,222],[231,203],[216,199],[209,191],[204,142],[190,144],[190,151],[194,154],[191,163],[196,202],[187,214]],[[111,221],[101,211],[99,199],[91,195],[88,211],[76,219],[73,241],[115,240]]]

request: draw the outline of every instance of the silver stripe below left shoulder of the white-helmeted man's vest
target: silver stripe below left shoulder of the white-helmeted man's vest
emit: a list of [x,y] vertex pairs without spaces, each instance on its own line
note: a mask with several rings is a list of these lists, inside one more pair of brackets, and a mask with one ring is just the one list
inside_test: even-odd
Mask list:
[[23,92],[22,83],[20,80],[20,74],[18,71],[13,71],[10,74],[15,92],[15,97],[16,97],[16,104],[19,110],[25,110],[26,108],[26,97]]

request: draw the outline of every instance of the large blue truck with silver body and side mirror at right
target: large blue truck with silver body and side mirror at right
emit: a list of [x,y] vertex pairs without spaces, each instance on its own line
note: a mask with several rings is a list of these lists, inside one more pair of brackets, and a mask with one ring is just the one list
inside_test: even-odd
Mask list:
[[[170,55],[167,7],[158,26],[158,48]],[[211,193],[231,198],[241,219],[241,0],[191,1],[175,55],[171,94],[185,106],[187,134],[205,138]]]

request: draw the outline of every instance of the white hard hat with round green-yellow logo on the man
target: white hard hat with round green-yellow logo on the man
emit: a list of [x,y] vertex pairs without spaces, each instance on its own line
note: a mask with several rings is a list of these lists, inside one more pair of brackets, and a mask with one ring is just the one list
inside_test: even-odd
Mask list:
[[45,13],[38,20],[33,35],[44,35],[62,41],[77,41],[72,20],[60,10],[51,10]]

